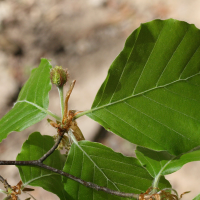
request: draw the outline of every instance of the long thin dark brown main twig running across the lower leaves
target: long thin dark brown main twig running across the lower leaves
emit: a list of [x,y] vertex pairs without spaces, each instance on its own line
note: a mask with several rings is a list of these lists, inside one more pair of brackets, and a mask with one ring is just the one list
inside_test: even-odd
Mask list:
[[139,194],[124,193],[124,192],[119,192],[119,191],[115,191],[115,190],[110,190],[109,188],[99,186],[99,185],[97,185],[95,183],[84,181],[84,180],[82,180],[80,178],[77,178],[76,176],[73,176],[71,174],[63,172],[62,170],[59,170],[59,169],[50,167],[48,165],[45,165],[45,164],[39,162],[38,160],[32,160],[32,161],[6,161],[6,160],[3,161],[2,160],[2,161],[0,161],[0,165],[38,166],[38,167],[50,170],[52,172],[55,172],[57,174],[60,174],[62,176],[65,176],[67,178],[70,178],[70,179],[72,179],[72,180],[74,180],[74,181],[76,181],[76,182],[78,182],[78,183],[80,183],[80,184],[82,184],[82,185],[84,185],[86,187],[95,189],[97,191],[104,191],[106,193],[109,193],[109,194],[112,194],[112,195],[116,195],[116,196],[120,196],[120,197],[129,197],[129,198],[138,198],[139,197]]

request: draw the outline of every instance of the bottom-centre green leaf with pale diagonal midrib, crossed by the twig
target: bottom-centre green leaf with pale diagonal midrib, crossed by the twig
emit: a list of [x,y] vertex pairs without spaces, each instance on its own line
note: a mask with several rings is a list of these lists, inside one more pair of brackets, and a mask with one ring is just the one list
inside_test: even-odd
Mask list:
[[[64,171],[82,180],[128,193],[143,193],[153,181],[136,158],[125,157],[102,144],[89,141],[73,143]],[[126,199],[87,188],[66,177],[63,177],[63,182],[70,199]],[[159,187],[171,186],[162,177]]]

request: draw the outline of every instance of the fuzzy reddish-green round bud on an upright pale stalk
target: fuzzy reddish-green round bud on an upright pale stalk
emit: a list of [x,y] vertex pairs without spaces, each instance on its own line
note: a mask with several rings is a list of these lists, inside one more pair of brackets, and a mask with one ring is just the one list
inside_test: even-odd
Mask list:
[[51,69],[50,79],[52,84],[56,85],[57,87],[62,87],[67,82],[68,72],[61,66],[56,66]]

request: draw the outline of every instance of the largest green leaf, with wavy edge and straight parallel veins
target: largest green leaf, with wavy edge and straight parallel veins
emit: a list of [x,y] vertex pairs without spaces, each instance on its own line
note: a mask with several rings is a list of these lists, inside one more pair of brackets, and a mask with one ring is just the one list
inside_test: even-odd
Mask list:
[[86,114],[132,143],[173,155],[200,145],[200,31],[142,24],[112,63]]

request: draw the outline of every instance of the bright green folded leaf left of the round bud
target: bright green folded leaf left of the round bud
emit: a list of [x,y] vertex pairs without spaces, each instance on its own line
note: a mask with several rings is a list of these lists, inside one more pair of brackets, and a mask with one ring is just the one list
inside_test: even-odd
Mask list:
[[47,115],[51,68],[47,59],[41,59],[39,67],[32,70],[14,107],[0,120],[0,142],[10,132],[22,131]]

